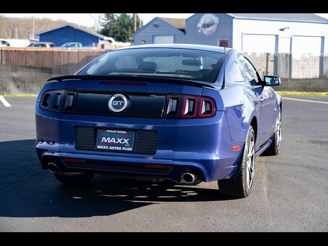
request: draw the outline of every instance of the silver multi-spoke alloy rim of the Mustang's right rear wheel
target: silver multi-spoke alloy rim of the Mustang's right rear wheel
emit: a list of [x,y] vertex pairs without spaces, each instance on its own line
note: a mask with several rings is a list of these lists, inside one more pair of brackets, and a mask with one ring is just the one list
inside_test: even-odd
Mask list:
[[247,189],[251,190],[253,179],[254,179],[254,173],[255,173],[255,137],[254,133],[252,132],[248,139],[248,146],[247,146],[247,156],[246,156],[246,185]]

